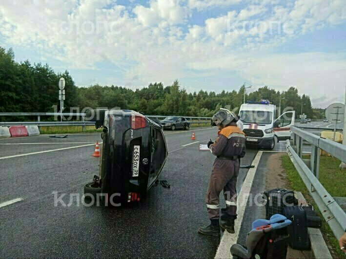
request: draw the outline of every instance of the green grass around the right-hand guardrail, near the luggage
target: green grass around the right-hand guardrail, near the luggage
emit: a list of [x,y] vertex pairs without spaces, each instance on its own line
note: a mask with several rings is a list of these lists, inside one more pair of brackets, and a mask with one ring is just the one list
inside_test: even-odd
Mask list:
[[[282,156],[282,166],[285,168],[287,173],[288,185],[291,189],[301,191],[308,203],[311,203],[319,216],[323,218],[320,210],[318,209],[316,203],[310,196],[302,178],[297,172],[296,168],[292,164],[288,155]],[[346,183],[345,183],[345,173],[346,171],[339,168],[340,161],[333,157],[323,157],[320,158],[320,177],[319,180],[321,184],[326,188],[331,196],[346,196]],[[326,221],[323,221],[321,232],[329,251],[333,258],[346,258],[344,252],[340,250],[339,242],[334,237],[333,232],[329,228]]]

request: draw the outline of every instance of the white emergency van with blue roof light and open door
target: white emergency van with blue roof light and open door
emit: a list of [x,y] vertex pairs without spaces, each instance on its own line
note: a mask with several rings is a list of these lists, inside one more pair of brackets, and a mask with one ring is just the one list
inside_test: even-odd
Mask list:
[[275,137],[278,142],[291,138],[295,111],[286,111],[275,119],[276,106],[268,100],[247,101],[240,107],[239,117],[243,122],[246,144],[273,149]]

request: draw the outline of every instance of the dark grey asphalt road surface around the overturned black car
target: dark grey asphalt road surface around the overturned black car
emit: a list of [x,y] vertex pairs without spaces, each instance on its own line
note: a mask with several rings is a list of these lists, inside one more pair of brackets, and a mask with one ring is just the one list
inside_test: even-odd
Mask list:
[[[165,131],[169,156],[159,179],[171,188],[154,186],[145,203],[126,208],[81,203],[83,186],[98,174],[99,159],[91,154],[100,134],[1,139],[0,203],[22,201],[0,207],[0,257],[214,257],[219,238],[197,229],[209,223],[204,195],[215,158],[199,144],[217,129],[194,131],[195,141],[191,131]],[[251,164],[257,151],[248,149],[242,164]],[[285,151],[285,142],[274,151]],[[246,173],[239,173],[238,192]],[[53,192],[64,195],[64,205],[55,205]],[[78,202],[75,196],[69,204],[71,194]]]

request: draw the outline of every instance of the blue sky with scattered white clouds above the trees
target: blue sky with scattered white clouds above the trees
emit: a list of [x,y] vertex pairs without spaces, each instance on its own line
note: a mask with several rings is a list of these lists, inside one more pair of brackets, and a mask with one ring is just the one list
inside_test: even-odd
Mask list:
[[345,0],[1,0],[0,46],[79,86],[296,86],[344,102]]

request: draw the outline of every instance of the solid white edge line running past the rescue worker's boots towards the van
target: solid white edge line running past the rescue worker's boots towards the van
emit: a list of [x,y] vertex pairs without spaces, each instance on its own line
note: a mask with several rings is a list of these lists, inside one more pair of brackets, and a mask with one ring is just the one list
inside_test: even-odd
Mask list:
[[[255,177],[255,173],[257,170],[257,166],[260,163],[261,156],[263,154],[263,151],[258,151],[255,159],[252,162],[252,165],[254,165],[254,168],[250,168],[246,174],[244,183],[242,185],[242,189],[240,190],[240,193],[238,195],[238,204],[245,204],[243,206],[238,206],[237,213],[238,217],[237,220],[234,222],[234,234],[229,234],[227,231],[224,231],[224,235],[220,241],[218,250],[216,252],[215,258],[232,258],[231,253],[229,251],[230,247],[237,243],[239,231],[243,222],[244,212],[246,208],[247,201],[249,199],[249,193],[251,190],[251,186],[253,183],[253,179]],[[239,203],[239,201],[241,201]]]

